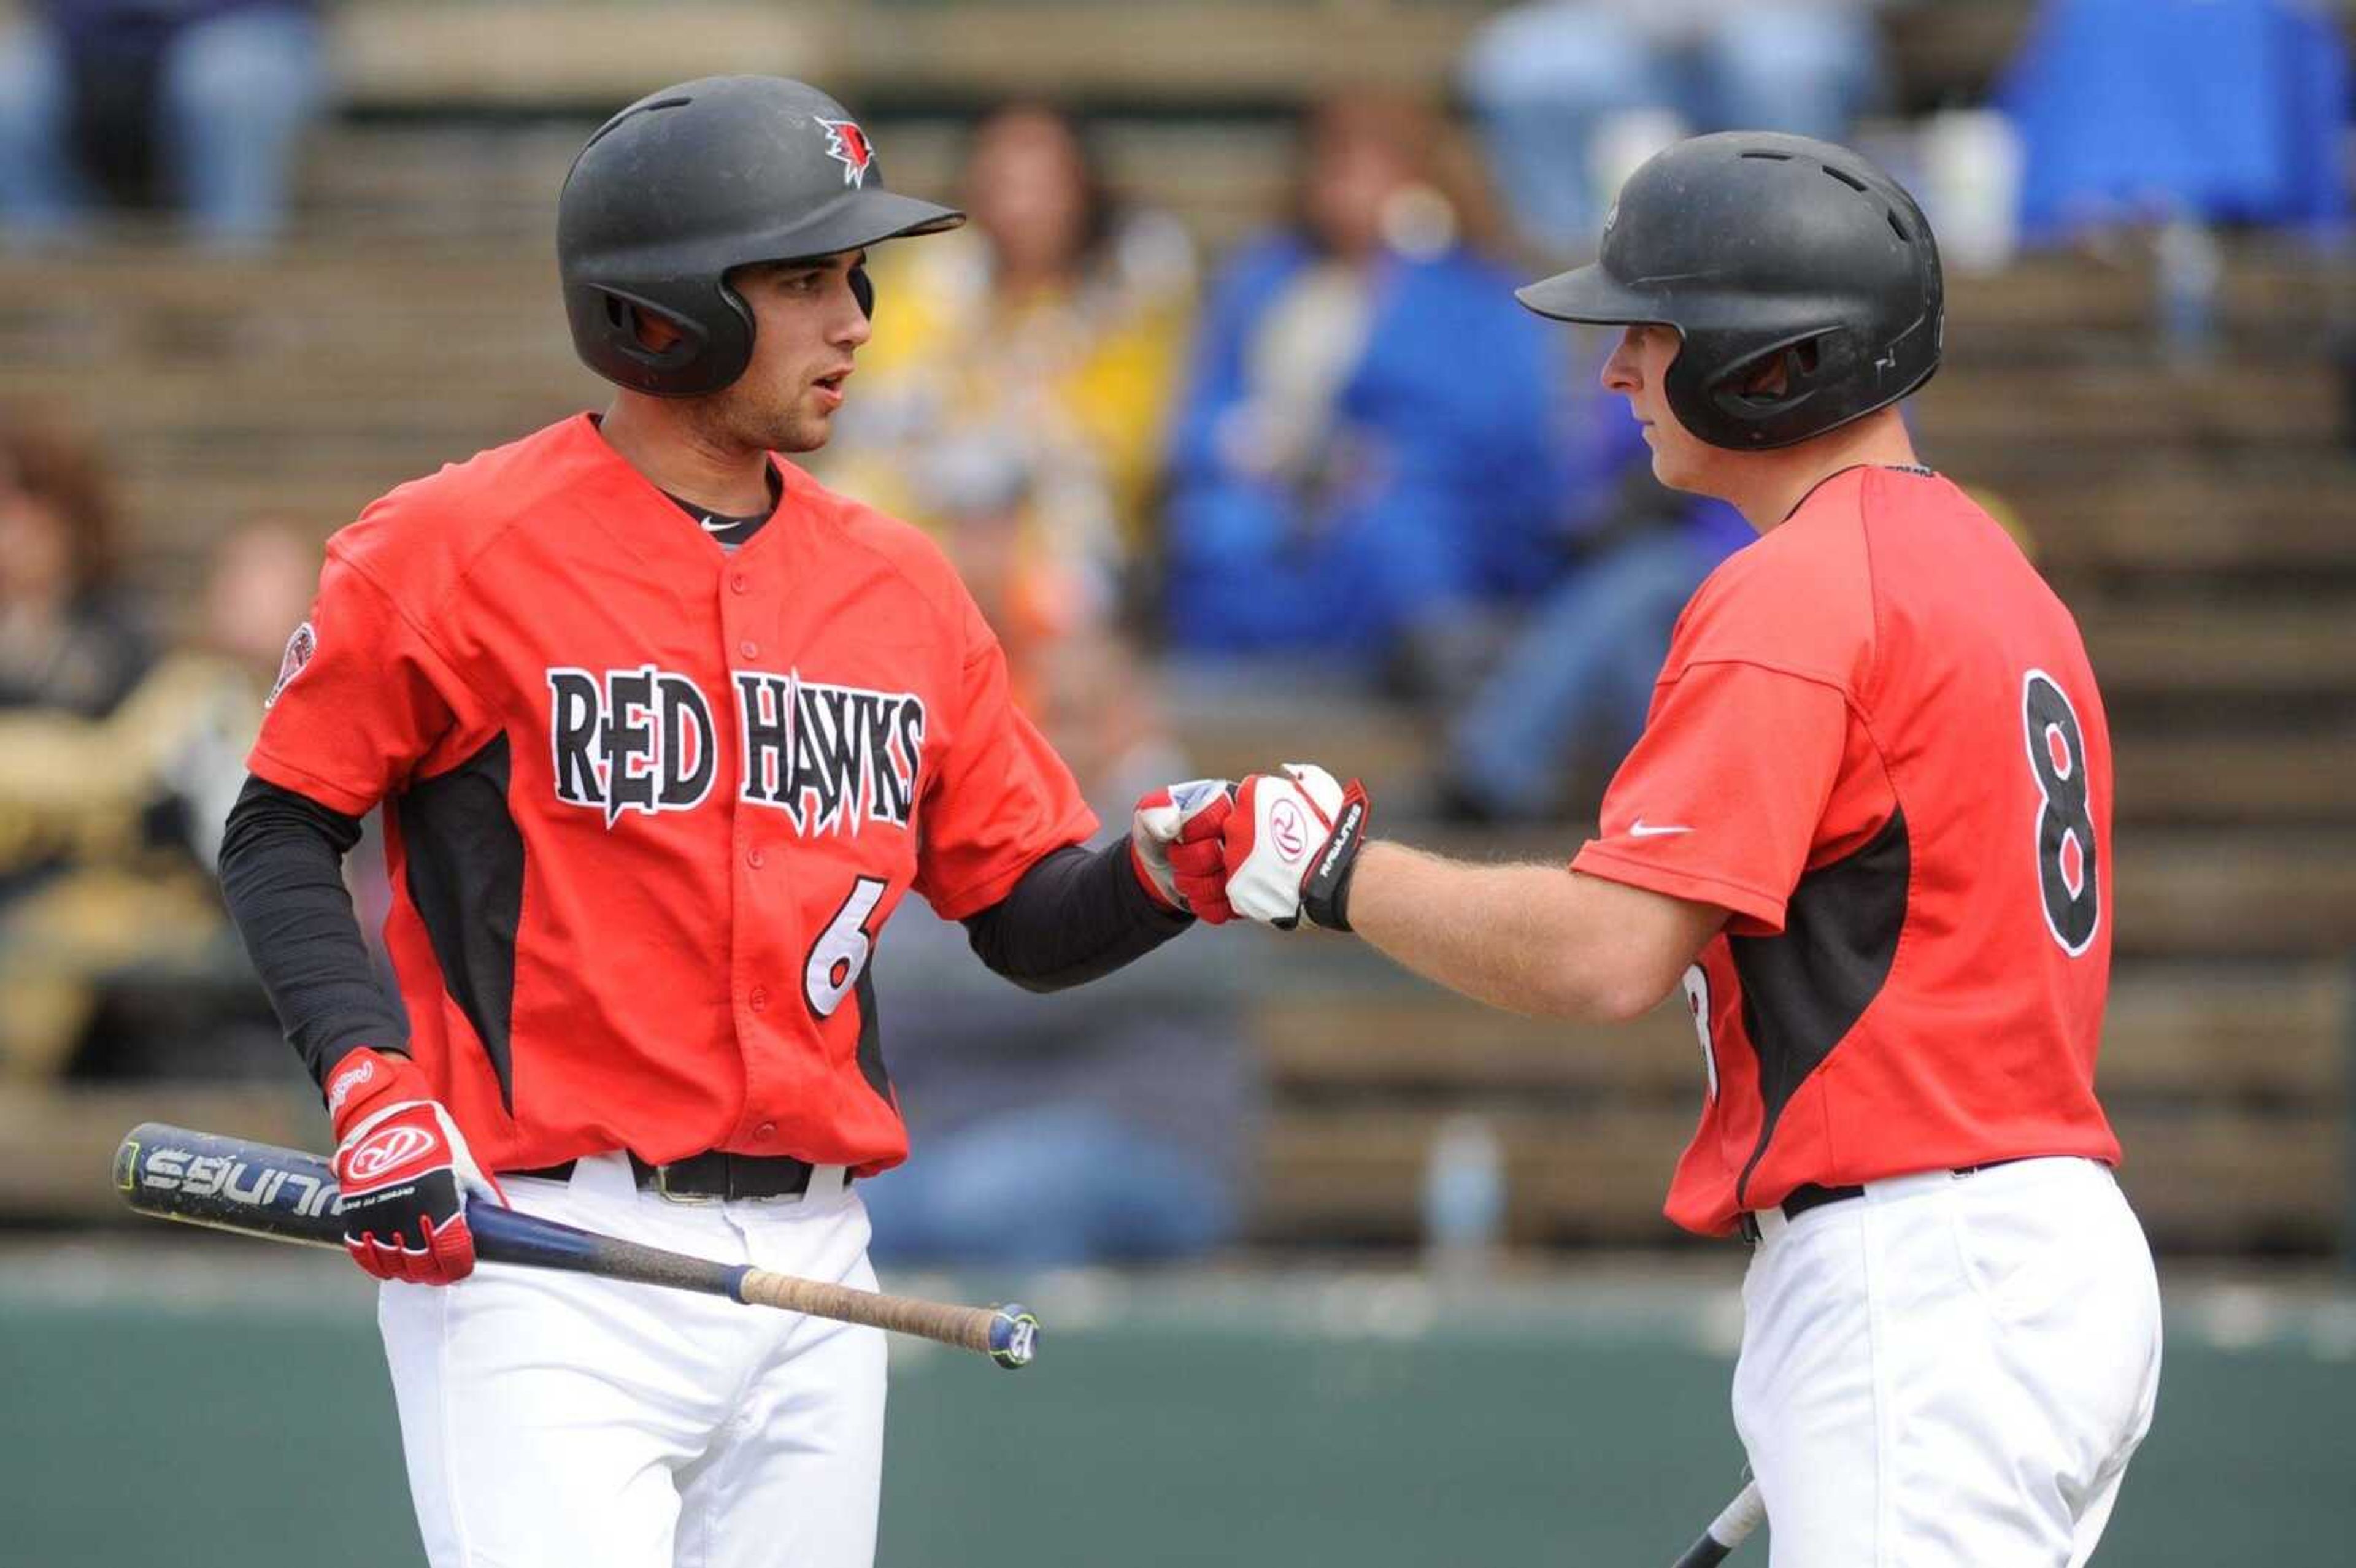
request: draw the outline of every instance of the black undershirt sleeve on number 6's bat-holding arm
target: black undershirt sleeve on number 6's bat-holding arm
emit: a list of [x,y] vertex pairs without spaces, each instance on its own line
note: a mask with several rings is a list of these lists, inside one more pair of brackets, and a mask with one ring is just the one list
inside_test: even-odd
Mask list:
[[221,895],[287,1043],[318,1083],[356,1045],[403,1050],[344,890],[360,819],[247,777],[221,833]]

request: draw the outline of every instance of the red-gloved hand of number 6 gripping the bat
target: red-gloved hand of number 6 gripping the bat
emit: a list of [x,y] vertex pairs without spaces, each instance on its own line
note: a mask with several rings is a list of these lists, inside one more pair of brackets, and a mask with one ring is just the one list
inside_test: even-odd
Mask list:
[[474,1274],[466,1196],[507,1194],[466,1151],[408,1057],[360,1048],[327,1078],[344,1250],[377,1278],[452,1285]]

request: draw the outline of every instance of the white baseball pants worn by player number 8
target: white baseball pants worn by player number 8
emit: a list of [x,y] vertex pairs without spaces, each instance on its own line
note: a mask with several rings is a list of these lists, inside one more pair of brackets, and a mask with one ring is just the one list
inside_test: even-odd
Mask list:
[[2151,1248],[2094,1161],[1760,1215],[1734,1427],[1772,1568],[2076,1568],[2158,1380]]

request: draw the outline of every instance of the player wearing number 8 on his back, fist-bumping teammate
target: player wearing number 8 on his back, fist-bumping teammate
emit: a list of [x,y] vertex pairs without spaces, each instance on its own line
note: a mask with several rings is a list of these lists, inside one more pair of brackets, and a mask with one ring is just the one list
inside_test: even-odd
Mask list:
[[1734,1417],[1774,1561],[2080,1563],[2160,1366],[2094,1099],[2111,746],[2069,612],[1894,407],[1939,363],[1930,226],[1845,148],[1701,137],[1522,301],[1623,325],[1604,386],[1654,473],[1760,530],[1677,622],[1600,836],[1569,871],[1366,843],[1364,789],[1305,765],[1187,833],[1232,911],[1501,1008],[1682,984],[1706,1099],[1668,1215],[1755,1243]]

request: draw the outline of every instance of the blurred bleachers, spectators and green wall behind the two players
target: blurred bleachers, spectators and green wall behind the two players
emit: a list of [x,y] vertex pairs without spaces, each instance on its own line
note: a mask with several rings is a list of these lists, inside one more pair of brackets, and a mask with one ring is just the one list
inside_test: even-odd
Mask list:
[[[417,1561],[365,1281],[134,1222],[104,1170],[146,1118],[325,1147],[212,885],[320,542],[603,405],[565,167],[660,85],[761,71],[973,214],[876,254],[815,466],[954,553],[1112,831],[1145,784],[1310,758],[1378,831],[1569,859],[1748,530],[1652,483],[1607,339],[1513,285],[1687,132],[1913,186],[1951,304],[1918,447],[2071,603],[2113,723],[2102,1090],[2170,1368],[2102,1561],[2342,1561],[2351,31],[2347,0],[0,0],[0,1559]],[[375,930],[377,845],[349,876]],[[1668,1561],[1732,1493],[1743,1253],[1659,1215],[1682,1010],[1515,1019],[1232,928],[1034,998],[916,902],[876,965],[916,1142],[862,1187],[884,1278],[1051,1326],[1013,1382],[893,1347],[886,1568]]]

